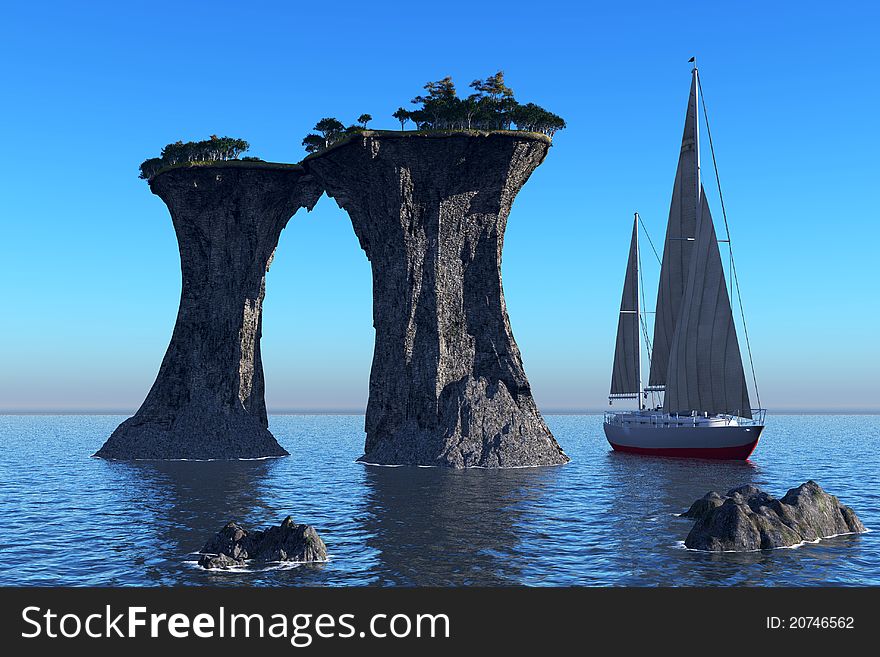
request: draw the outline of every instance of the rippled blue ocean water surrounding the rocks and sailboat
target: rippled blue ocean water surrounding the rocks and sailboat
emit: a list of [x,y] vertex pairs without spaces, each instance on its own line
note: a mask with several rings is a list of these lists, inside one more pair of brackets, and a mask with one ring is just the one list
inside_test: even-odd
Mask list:
[[[123,416],[0,416],[0,584],[26,586],[880,585],[880,531],[796,549],[684,549],[674,514],[709,490],[774,495],[812,478],[880,529],[880,416],[773,416],[748,462],[610,451],[600,415],[546,419],[561,467],[355,463],[363,417],[273,416],[292,456],[238,462],[90,458]],[[321,565],[204,571],[230,519],[314,525]]]

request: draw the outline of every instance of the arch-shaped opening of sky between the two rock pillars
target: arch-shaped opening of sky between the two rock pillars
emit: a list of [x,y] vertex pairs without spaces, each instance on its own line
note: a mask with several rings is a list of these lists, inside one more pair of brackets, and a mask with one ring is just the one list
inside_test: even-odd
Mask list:
[[266,275],[263,369],[270,412],[357,412],[373,356],[372,275],[351,220],[322,195],[281,232]]

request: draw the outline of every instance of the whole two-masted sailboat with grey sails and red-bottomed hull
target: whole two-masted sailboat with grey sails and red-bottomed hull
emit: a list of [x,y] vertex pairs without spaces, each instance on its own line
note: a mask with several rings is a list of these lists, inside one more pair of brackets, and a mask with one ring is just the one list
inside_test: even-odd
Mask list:
[[[604,429],[617,451],[744,460],[758,444],[766,411],[751,408],[730,303],[732,287],[728,294],[719,240],[701,181],[701,94],[694,62],[660,264],[653,341],[648,337],[649,313],[642,308],[638,214],[633,219],[609,403],[635,399],[638,408],[606,412]],[[705,113],[705,104],[703,109]],[[708,134],[711,146],[711,132]],[[714,149],[712,158],[714,163]],[[721,203],[723,210],[723,197]],[[726,228],[726,214],[724,224]],[[730,244],[729,232],[721,241]],[[735,282],[732,248],[730,263]],[[744,323],[743,327],[745,331]],[[748,344],[748,333],[745,335]],[[645,388],[641,379],[643,339],[650,360]],[[757,396],[756,380],[754,387]],[[662,399],[662,404],[647,404],[649,395],[653,401]]]

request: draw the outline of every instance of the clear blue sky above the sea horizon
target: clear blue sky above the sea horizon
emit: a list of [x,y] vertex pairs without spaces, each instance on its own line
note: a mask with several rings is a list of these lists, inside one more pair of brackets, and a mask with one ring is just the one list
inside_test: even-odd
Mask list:
[[[180,293],[137,178],[164,144],[298,161],[322,116],[394,128],[426,81],[499,69],[569,125],[510,216],[514,334],[544,410],[602,408],[632,212],[662,240],[694,54],[764,405],[876,409],[878,24],[867,2],[7,3],[0,410],[142,401]],[[269,273],[270,408],[363,408],[372,344],[369,265],[325,197]]]

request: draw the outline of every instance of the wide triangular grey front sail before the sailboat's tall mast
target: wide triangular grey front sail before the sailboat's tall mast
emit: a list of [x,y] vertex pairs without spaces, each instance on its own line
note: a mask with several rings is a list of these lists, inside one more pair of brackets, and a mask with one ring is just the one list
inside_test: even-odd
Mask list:
[[700,196],[693,257],[670,345],[663,410],[750,418],[749,392],[715,226],[706,196]]

